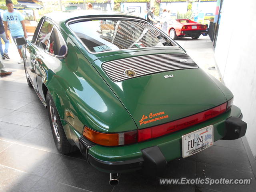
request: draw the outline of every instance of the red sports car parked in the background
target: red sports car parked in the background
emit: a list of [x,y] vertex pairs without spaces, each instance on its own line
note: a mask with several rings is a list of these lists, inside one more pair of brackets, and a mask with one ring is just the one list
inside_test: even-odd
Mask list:
[[194,22],[190,19],[170,20],[168,23],[169,36],[176,40],[178,37],[191,37],[198,39],[206,32],[206,25]]

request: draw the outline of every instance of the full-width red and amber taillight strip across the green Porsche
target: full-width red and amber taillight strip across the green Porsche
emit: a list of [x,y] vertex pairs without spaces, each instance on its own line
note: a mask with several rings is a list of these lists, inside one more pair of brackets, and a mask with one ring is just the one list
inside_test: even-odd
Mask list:
[[228,105],[230,107],[232,106],[232,102],[233,99],[229,100],[224,104],[221,104],[217,107],[206,110],[204,112],[200,112],[198,114],[194,114],[162,125],[128,132],[102,133],[94,131],[88,128],[87,126],[84,126],[83,136],[96,144],[104,146],[118,146],[141,142],[148,139],[160,137],[178,130],[182,130],[189,126],[193,126],[195,124],[214,118],[226,112],[228,110]]

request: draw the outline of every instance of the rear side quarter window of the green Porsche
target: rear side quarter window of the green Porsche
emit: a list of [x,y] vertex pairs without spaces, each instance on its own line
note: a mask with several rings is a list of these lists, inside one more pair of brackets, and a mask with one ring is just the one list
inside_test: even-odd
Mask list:
[[63,56],[66,54],[66,45],[62,38],[62,34],[60,34],[56,27],[52,30],[46,51],[57,56]]

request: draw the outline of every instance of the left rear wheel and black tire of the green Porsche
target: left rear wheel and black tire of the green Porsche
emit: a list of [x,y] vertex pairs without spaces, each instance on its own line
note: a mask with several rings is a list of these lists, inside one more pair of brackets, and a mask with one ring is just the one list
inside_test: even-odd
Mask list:
[[50,92],[46,93],[46,103],[48,108],[50,126],[52,128],[52,136],[54,138],[56,148],[61,154],[68,154],[77,150],[76,146],[72,146],[68,142],[62,123],[60,121],[60,116],[58,114]]

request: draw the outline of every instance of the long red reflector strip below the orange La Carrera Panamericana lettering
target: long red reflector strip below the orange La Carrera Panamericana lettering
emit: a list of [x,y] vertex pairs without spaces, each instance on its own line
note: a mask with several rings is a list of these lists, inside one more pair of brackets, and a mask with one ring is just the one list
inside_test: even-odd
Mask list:
[[204,122],[210,118],[214,118],[226,112],[227,103],[214,107],[212,109],[188,116],[179,120],[175,120],[162,125],[138,130],[138,142],[163,136],[178,130],[182,130],[189,126]]

